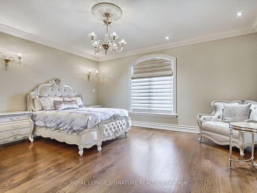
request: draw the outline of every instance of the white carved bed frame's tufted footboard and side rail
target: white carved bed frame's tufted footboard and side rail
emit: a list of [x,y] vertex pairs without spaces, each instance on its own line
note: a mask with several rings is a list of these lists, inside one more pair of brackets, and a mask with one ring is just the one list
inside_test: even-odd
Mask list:
[[83,155],[84,148],[90,148],[97,145],[97,150],[101,151],[102,142],[114,139],[122,133],[125,133],[125,137],[127,137],[128,130],[130,129],[130,117],[114,115],[108,120],[100,122],[96,127],[88,128],[80,134],[70,134],[60,130],[36,126],[34,127],[33,133],[38,136],[56,139],[59,142],[76,144],[79,146],[79,154]]

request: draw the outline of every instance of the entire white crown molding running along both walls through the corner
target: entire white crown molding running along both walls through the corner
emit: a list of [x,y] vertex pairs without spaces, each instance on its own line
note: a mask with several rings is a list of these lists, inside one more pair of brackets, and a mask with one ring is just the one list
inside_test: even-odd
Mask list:
[[84,58],[88,58],[91,60],[101,62],[101,61],[106,61],[106,60],[113,60],[116,58],[123,58],[123,57],[128,57],[128,56],[146,54],[146,53],[153,52],[153,51],[160,51],[160,50],[164,50],[164,49],[170,49],[170,48],[175,48],[175,47],[180,47],[180,46],[187,46],[187,45],[192,45],[192,44],[197,44],[197,43],[203,43],[203,42],[209,42],[209,41],[213,41],[213,40],[224,39],[224,38],[242,36],[242,35],[249,34],[249,33],[255,33],[255,32],[257,32],[257,18],[253,22],[253,24],[248,27],[226,30],[226,31],[211,33],[211,34],[207,34],[207,35],[199,36],[199,37],[195,37],[195,38],[180,40],[180,41],[176,41],[176,42],[170,42],[170,43],[166,43],[166,44],[160,44],[160,45],[149,46],[149,47],[144,47],[144,48],[140,48],[140,49],[134,49],[131,51],[126,51],[123,54],[118,54],[114,57],[113,56],[97,57],[97,56],[88,54],[84,51],[80,51],[75,48],[71,48],[71,47],[68,47],[68,46],[65,46],[62,44],[58,44],[58,43],[40,38],[38,36],[34,36],[31,33],[27,33],[27,32],[21,31],[19,29],[15,29],[15,28],[9,27],[4,24],[0,24],[0,31],[4,32],[4,33],[8,33],[12,36],[23,38],[25,40],[29,40],[29,41],[36,42],[36,43],[39,43],[42,45],[46,45],[46,46],[49,46],[52,48],[56,48],[56,49],[59,49],[62,51],[66,51],[66,52],[69,52],[69,53],[77,55],[77,56],[81,56]]

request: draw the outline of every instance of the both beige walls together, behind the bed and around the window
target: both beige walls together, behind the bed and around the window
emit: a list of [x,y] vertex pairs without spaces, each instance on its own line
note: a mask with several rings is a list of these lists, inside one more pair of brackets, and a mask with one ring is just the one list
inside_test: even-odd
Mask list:
[[[21,66],[0,63],[0,111],[26,110],[26,94],[56,77],[82,93],[84,103],[128,109],[128,65],[139,57],[98,62],[0,32],[0,52],[22,52]],[[211,113],[215,99],[257,101],[257,33],[177,47],[149,54],[177,58],[177,118],[132,116],[132,120],[196,126],[196,115]],[[99,92],[98,92],[99,87]],[[95,93],[93,93],[95,89]]]

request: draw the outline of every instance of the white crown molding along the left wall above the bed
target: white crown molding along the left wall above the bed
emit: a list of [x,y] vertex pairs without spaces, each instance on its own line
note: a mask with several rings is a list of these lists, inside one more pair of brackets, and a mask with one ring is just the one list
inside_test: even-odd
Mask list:
[[98,61],[98,57],[87,54],[86,52],[83,52],[83,51],[80,51],[78,49],[74,49],[74,48],[71,48],[71,47],[68,47],[68,46],[65,46],[65,45],[62,45],[62,44],[58,44],[58,43],[40,38],[38,36],[34,36],[31,33],[27,33],[25,31],[21,31],[19,29],[15,29],[15,28],[9,27],[9,26],[4,25],[4,24],[0,24],[0,31],[4,32],[4,33],[8,33],[12,36],[16,36],[16,37],[25,39],[25,40],[29,40],[29,41],[39,43],[39,44],[42,44],[42,45],[45,45],[45,46],[49,46],[49,47],[56,48],[56,49],[59,49],[59,50],[62,50],[62,51],[66,51],[66,52],[69,52],[71,54],[81,56],[83,58],[88,58],[88,59],[91,59],[91,60]]

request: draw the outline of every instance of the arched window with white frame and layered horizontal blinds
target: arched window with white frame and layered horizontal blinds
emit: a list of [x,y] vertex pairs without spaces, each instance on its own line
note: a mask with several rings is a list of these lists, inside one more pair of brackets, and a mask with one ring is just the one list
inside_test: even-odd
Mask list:
[[131,114],[176,114],[176,58],[150,55],[130,65]]

